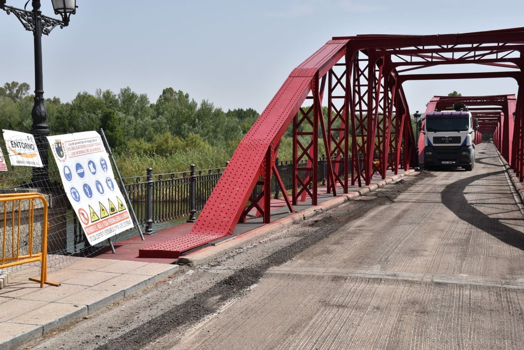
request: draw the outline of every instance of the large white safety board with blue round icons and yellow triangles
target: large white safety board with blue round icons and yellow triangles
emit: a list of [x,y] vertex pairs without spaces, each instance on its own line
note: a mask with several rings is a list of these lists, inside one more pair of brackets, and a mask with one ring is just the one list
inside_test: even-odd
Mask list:
[[71,206],[91,245],[134,227],[96,131],[48,136]]

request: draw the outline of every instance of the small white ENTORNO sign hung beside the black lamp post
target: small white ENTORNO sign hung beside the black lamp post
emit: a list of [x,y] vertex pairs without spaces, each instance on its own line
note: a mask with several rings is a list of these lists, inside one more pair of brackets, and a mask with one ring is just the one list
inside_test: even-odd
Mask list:
[[42,167],[35,138],[28,133],[2,130],[11,165]]

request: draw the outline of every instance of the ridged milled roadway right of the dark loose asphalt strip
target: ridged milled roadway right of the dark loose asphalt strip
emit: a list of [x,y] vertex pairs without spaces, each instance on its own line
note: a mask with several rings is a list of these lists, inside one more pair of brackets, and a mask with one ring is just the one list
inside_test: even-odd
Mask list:
[[482,144],[473,172],[432,172],[341,222],[177,348],[521,348],[523,232],[496,151]]

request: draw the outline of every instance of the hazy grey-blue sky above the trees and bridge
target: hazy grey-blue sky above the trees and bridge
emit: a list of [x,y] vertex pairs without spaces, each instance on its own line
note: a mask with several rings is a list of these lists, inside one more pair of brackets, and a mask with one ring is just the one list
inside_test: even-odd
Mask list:
[[[25,1],[7,4],[23,7]],[[80,91],[129,86],[155,102],[171,86],[224,110],[259,112],[291,70],[333,36],[520,27],[524,13],[521,0],[77,0],[77,5],[69,27],[42,39],[46,97],[65,102]],[[52,15],[51,0],[42,0],[42,9]],[[31,33],[5,13],[0,32],[0,84],[27,82],[34,88]],[[510,79],[405,84],[412,111],[453,90],[512,94],[517,85]]]

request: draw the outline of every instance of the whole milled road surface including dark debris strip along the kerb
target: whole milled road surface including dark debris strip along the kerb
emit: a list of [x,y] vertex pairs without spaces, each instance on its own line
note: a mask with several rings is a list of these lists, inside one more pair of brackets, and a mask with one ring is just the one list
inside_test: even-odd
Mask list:
[[524,227],[493,144],[186,266],[38,349],[522,348]]

